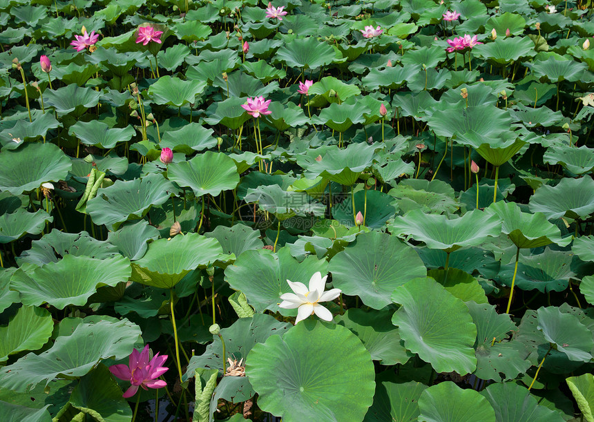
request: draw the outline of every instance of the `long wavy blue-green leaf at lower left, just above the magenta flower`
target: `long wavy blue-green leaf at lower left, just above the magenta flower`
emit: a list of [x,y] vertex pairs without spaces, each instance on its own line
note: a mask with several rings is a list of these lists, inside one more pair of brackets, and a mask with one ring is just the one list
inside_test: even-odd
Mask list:
[[127,319],[91,320],[77,325],[70,335],[59,336],[39,355],[30,353],[0,370],[0,386],[25,391],[59,375],[83,376],[106,358],[126,358],[140,336],[140,327]]

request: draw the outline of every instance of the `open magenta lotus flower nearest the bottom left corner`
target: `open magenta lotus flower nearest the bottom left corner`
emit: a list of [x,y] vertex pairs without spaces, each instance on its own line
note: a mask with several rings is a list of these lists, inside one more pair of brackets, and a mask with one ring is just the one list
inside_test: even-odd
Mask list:
[[130,381],[132,384],[123,394],[124,398],[128,399],[128,397],[136,394],[138,387],[142,387],[144,390],[166,387],[167,383],[165,381],[155,379],[169,370],[168,367],[162,366],[166,360],[166,354],[159,356],[158,353],[151,359],[148,345],[146,345],[142,352],[133,349],[128,366],[123,363],[111,365],[109,370],[117,378]]

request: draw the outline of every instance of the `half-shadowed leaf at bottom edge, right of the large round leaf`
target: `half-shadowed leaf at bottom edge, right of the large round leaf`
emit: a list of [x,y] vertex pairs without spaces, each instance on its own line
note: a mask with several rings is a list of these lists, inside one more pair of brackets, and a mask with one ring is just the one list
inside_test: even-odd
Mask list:
[[427,385],[410,381],[392,383],[376,379],[374,402],[365,415],[364,422],[412,422],[419,411],[419,397]]

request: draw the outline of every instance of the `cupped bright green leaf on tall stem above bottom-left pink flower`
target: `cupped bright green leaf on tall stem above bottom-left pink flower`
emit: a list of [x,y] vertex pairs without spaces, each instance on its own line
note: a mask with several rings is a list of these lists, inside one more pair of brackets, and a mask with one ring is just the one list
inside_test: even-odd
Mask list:
[[229,258],[216,239],[198,233],[155,240],[140,260],[132,263],[131,280],[143,285],[171,289],[190,271]]

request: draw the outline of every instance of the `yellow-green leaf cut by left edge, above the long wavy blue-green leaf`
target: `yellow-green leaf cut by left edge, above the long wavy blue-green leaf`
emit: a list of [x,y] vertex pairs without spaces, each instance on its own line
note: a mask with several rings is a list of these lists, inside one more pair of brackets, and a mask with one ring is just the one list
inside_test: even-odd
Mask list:
[[8,355],[23,350],[37,350],[50,338],[54,323],[46,309],[23,306],[8,322],[0,327],[0,362]]

